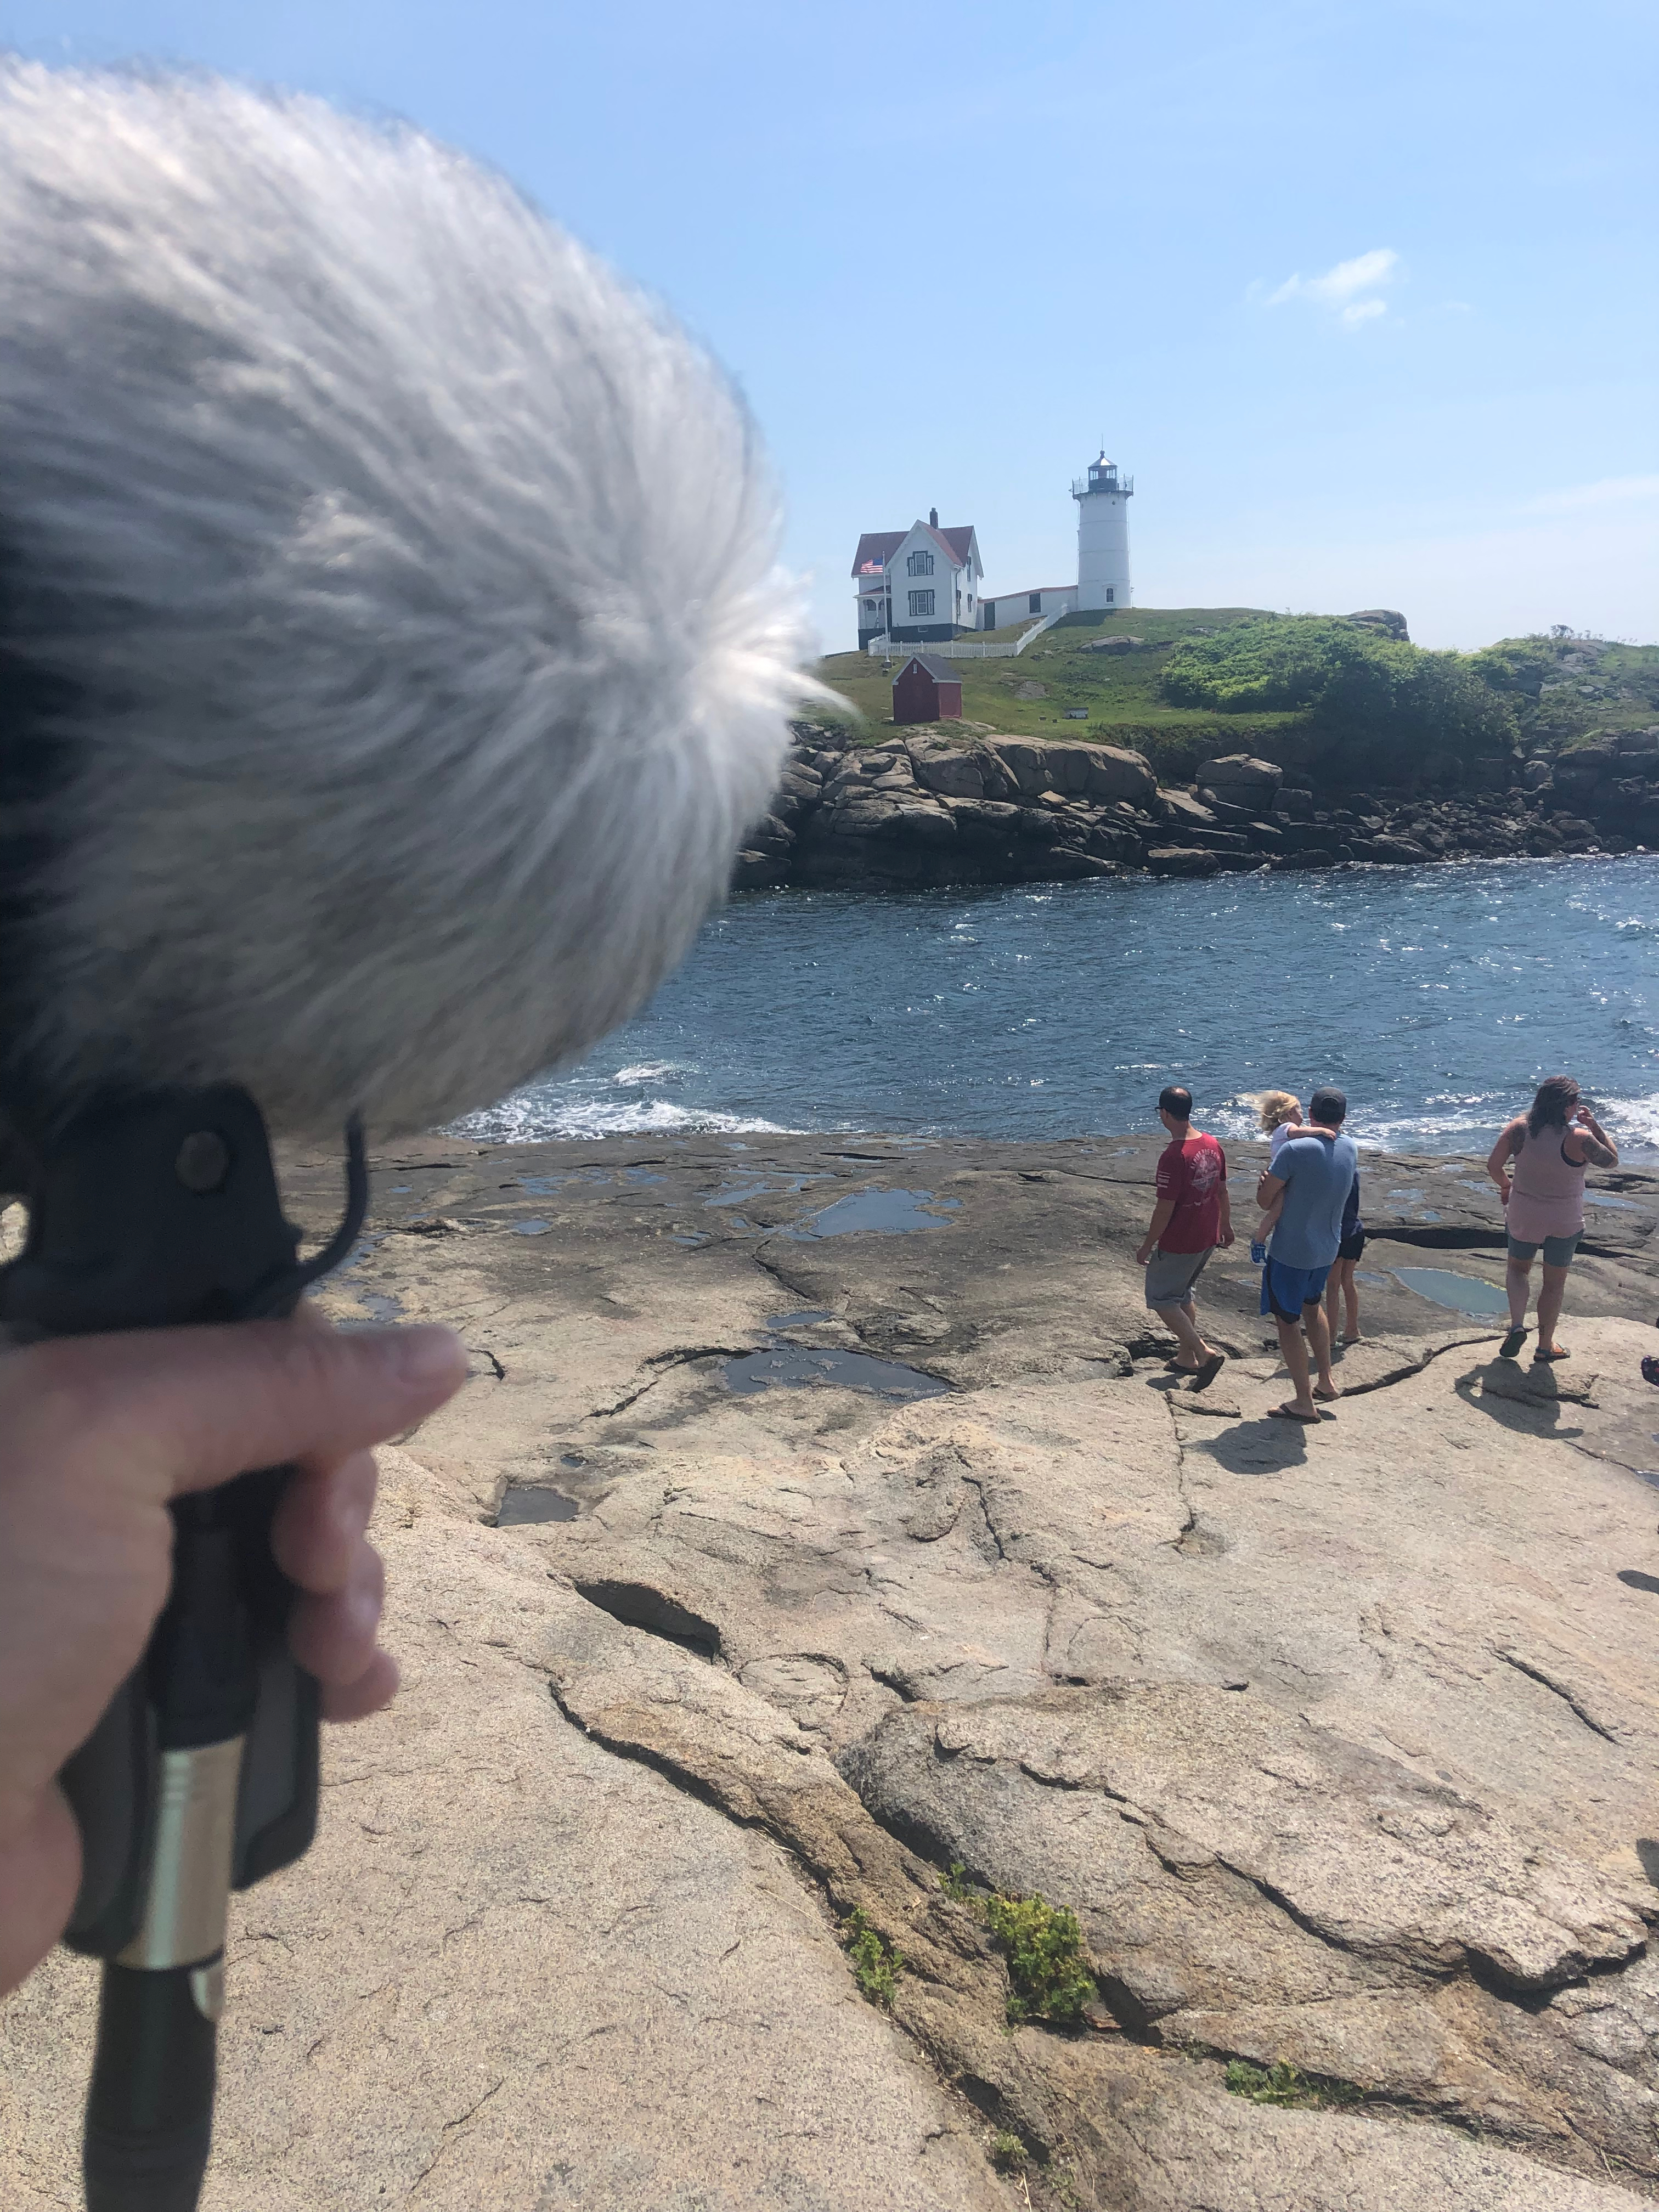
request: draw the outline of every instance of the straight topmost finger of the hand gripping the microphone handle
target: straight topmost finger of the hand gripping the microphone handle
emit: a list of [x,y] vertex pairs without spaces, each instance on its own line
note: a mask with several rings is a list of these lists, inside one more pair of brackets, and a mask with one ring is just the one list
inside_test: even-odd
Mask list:
[[69,1336],[0,1356],[0,1436],[24,1469],[108,1469],[157,1502],[252,1467],[376,1444],[456,1394],[451,1329],[243,1321]]

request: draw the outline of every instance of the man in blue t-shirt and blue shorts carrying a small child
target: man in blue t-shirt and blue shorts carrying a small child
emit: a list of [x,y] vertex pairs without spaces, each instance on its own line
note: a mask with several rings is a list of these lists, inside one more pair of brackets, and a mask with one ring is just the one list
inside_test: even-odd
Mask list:
[[[1296,1385],[1292,1402],[1274,1407],[1281,1420],[1318,1420],[1314,1398],[1340,1396],[1332,1376],[1332,1332],[1321,1298],[1343,1241],[1343,1208],[1360,1164],[1354,1139],[1343,1135],[1345,1119],[1343,1093],[1316,1091],[1307,1102],[1307,1130],[1279,1146],[1279,1159],[1263,1170],[1256,1186],[1256,1206],[1263,1208],[1281,1188],[1285,1192],[1267,1265],[1261,1270],[1261,1310],[1274,1316],[1279,1349]],[[1318,1389],[1310,1389],[1310,1345],[1318,1367]]]

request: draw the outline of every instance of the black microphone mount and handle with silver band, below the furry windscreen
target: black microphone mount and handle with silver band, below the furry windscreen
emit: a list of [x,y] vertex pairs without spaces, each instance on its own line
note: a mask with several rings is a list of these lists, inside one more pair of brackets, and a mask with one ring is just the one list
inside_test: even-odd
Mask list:
[[[31,1126],[29,1239],[0,1270],[13,1343],[288,1316],[367,1212],[347,1126],[345,1219],[299,1261],[246,1091],[108,1091]],[[270,1553],[290,1469],[173,1506],[173,1590],[142,1663],[62,1772],[82,1832],[64,1940],[104,1960],[86,2099],[88,2212],[192,2212],[212,2139],[232,1889],[316,1829],[319,1694],[288,1652],[294,1590]]]

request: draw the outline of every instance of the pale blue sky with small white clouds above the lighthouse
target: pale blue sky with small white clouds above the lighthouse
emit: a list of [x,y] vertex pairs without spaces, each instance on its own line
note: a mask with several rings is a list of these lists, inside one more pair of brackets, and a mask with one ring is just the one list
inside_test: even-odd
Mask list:
[[[504,168],[728,363],[827,646],[860,529],[1144,606],[1659,637],[1650,0],[0,0]],[[925,199],[956,221],[916,223]]]

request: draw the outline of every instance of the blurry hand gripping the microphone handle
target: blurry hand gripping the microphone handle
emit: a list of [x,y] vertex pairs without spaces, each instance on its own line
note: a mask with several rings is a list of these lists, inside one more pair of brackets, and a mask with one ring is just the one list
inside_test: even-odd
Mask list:
[[272,1548],[288,1641],[323,1714],[387,1703],[369,1444],[451,1398],[449,1329],[336,1334],[312,1316],[135,1329],[0,1354],[0,1991],[58,1942],[80,1832],[58,1770],[137,1666],[168,1595],[168,1500],[296,1464]]

